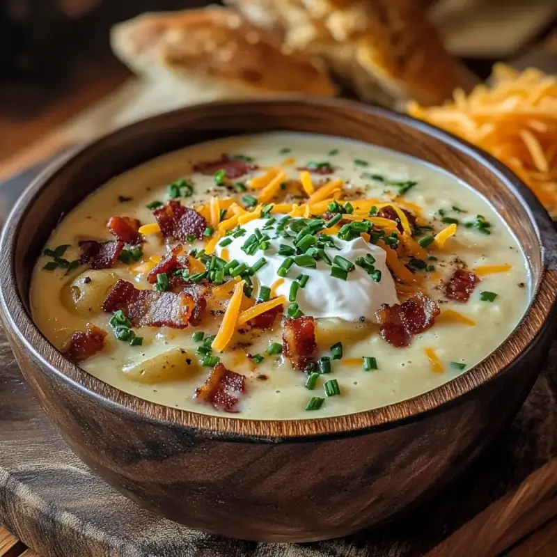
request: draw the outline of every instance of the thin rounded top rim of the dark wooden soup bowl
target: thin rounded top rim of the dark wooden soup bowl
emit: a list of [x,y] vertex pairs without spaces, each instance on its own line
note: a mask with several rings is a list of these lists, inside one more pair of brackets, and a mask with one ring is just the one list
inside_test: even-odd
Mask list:
[[[141,120],[138,123],[123,127],[116,132],[111,132],[100,139],[95,139],[84,146],[71,150],[49,166],[45,172],[33,181],[19,198],[12,212],[10,212],[0,242],[2,258],[2,267],[0,269],[0,303],[3,324],[8,328],[10,334],[17,339],[17,342],[21,343],[33,359],[39,363],[41,372],[51,375],[56,380],[70,386],[73,391],[90,400],[93,399],[95,403],[103,405],[119,414],[127,414],[135,418],[167,424],[173,427],[178,425],[193,434],[208,436],[216,440],[276,443],[306,441],[308,439],[334,439],[366,434],[372,430],[384,430],[402,425],[408,421],[422,419],[425,414],[441,411],[441,409],[446,409],[447,405],[462,402],[466,398],[473,396],[474,390],[482,388],[500,372],[504,372],[506,368],[515,365],[518,360],[526,357],[529,349],[535,345],[535,340],[547,326],[548,317],[554,312],[557,298],[557,292],[554,289],[551,291],[551,304],[549,304],[549,307],[541,307],[538,296],[540,288],[544,284],[547,286],[550,278],[549,275],[555,276],[556,274],[557,234],[549,215],[530,189],[506,166],[486,152],[472,146],[470,143],[466,143],[466,141],[462,141],[452,134],[423,123],[421,120],[416,120],[410,116],[395,113],[388,109],[347,100],[300,98],[292,95],[275,97],[271,100],[214,102],[203,106],[218,109],[223,105],[232,105],[235,109],[241,111],[246,107],[254,106],[270,108],[275,103],[292,103],[298,106],[313,104],[314,106],[322,107],[324,110],[327,110],[327,108],[352,109],[353,111],[357,110],[366,113],[369,116],[379,116],[393,120],[400,125],[414,128],[414,130],[425,134],[425,136],[442,141],[451,148],[471,157],[478,164],[485,166],[490,173],[494,174],[512,192],[513,196],[519,198],[519,201],[521,201],[528,213],[529,224],[538,237],[542,256],[542,269],[540,269],[540,283],[535,292],[533,292],[528,311],[521,322],[517,324],[512,334],[505,339],[497,350],[489,354],[486,359],[470,370],[437,387],[437,389],[417,395],[414,398],[386,407],[345,416],[285,421],[250,420],[234,418],[230,415],[209,416],[141,400],[89,375],[86,371],[66,360],[60,352],[57,350],[53,351],[52,345],[42,336],[42,333],[27,313],[25,304],[19,297],[15,281],[15,238],[17,237],[22,217],[26,212],[26,207],[33,204],[33,199],[38,191],[45,187],[58,171],[61,171],[67,165],[79,161],[81,155],[84,155],[98,143],[106,141],[108,137],[125,137],[126,134],[134,130],[150,127],[154,123],[164,121],[166,118],[173,118],[175,113],[195,112],[198,106],[194,106]],[[542,317],[538,320],[538,324],[532,322],[533,313],[538,313]],[[530,322],[531,327],[535,329],[535,334],[529,339],[519,338],[518,333],[521,329],[524,329],[526,322]],[[511,343],[510,340],[513,342]]]

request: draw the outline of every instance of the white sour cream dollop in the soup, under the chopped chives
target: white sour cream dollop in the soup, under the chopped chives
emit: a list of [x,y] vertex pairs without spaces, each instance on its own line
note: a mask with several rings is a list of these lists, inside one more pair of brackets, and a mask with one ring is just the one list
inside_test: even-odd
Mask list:
[[[253,277],[254,293],[258,295],[260,287],[269,288],[278,279],[278,268],[281,267],[285,256],[278,254],[281,244],[294,246],[293,238],[285,238],[276,235],[275,228],[263,230],[266,219],[255,219],[244,224],[242,228],[246,233],[240,237],[230,239],[233,241],[226,247],[221,247],[219,242],[215,253],[221,256],[223,249],[228,250],[228,260],[237,260],[246,265],[253,265],[260,258],[264,257],[267,263],[261,267]],[[246,240],[256,230],[262,231],[269,237],[270,247],[265,251],[258,249],[253,255],[248,255],[242,250]],[[331,267],[323,261],[317,261],[315,269],[299,267],[294,263],[284,282],[276,288],[277,295],[283,295],[288,300],[290,286],[300,274],[306,274],[309,279],[305,288],[299,288],[297,292],[297,304],[305,315],[313,317],[337,317],[345,321],[358,321],[360,317],[375,322],[375,312],[382,304],[398,304],[393,277],[386,266],[386,253],[383,249],[363,240],[362,237],[356,240],[339,240],[333,236],[334,243],[339,249],[328,247],[325,252],[331,258],[342,256],[354,262],[356,258],[370,254],[375,258],[375,269],[381,272],[381,280],[376,282],[366,272],[365,269],[356,265],[356,268],[348,273],[348,278],[343,281],[340,278],[331,276]]]

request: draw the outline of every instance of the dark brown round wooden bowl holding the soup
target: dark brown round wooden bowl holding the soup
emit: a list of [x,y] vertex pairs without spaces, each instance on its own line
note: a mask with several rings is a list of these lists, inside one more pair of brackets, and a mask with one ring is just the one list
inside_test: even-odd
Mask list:
[[[244,420],[156,405],[65,360],[33,324],[28,295],[33,264],[61,216],[109,178],[152,157],[269,130],[334,134],[392,148],[446,168],[485,194],[531,265],[531,306],[510,338],[429,393],[304,421]],[[556,244],[546,212],[510,171],[411,118],[338,100],[207,104],[95,141],[26,190],[1,240],[3,322],[49,418],[81,460],[120,492],[204,531],[267,542],[323,540],[380,524],[422,501],[510,422],[554,337]]]

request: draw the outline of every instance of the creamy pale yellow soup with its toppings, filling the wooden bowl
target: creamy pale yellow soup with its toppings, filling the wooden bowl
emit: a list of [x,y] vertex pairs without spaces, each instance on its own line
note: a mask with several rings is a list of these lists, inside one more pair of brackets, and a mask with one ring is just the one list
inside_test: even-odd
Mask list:
[[[222,172],[218,164],[194,171],[195,164],[214,162],[223,153],[235,162]],[[242,164],[246,173],[228,178],[242,173]],[[315,197],[322,188],[328,189]],[[107,228],[111,217],[151,225],[157,222],[152,207],[172,197],[205,217],[201,239],[194,233],[176,242],[154,224],[141,228],[144,241],[126,244],[109,268],[94,269],[87,257],[88,264],[80,262],[79,242],[115,240]],[[405,222],[400,212],[392,214],[393,207],[406,211]],[[242,219],[254,209],[255,215]],[[219,233],[219,223],[227,220]],[[148,273],[176,245],[183,246],[175,252],[178,259],[189,257],[187,270],[173,267],[150,283]],[[107,333],[102,350],[74,361],[95,377],[162,405],[205,414],[228,411],[237,418],[351,414],[430,391],[493,352],[530,299],[524,254],[485,198],[439,168],[329,136],[238,136],[159,157],[88,196],[45,247],[34,271],[31,306],[38,327],[58,349],[74,354],[73,336],[79,352],[75,334],[94,324]],[[201,249],[214,251],[204,256]],[[196,257],[185,256],[191,250]],[[226,267],[229,262],[233,267]],[[127,317],[149,318],[137,317],[137,308],[123,306],[116,318],[114,311],[103,311],[118,279],[157,295],[168,292],[171,313],[191,311],[192,298],[180,295],[181,285],[197,281],[207,305],[197,321],[188,322],[186,315],[181,328],[136,326]],[[418,292],[427,298],[418,301],[416,317],[403,302],[411,304]],[[280,315],[271,317],[270,328],[240,322],[256,301],[277,297],[283,297],[276,306]],[[432,304],[425,313],[424,299]],[[237,311],[227,310],[238,302]],[[375,315],[382,304],[403,304],[409,311],[395,311],[393,322],[389,308]],[[291,320],[283,321],[283,313]],[[304,323],[301,340],[299,334],[289,336],[292,329],[283,338],[286,321]],[[234,374],[226,375],[221,363]],[[207,385],[211,378],[215,383],[196,396],[207,378]]]

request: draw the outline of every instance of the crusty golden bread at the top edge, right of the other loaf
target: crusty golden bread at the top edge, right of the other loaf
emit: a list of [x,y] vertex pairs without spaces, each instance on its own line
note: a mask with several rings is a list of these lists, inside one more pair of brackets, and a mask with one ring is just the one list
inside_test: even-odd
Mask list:
[[228,0],[287,47],[320,56],[363,100],[439,104],[476,79],[416,0]]

